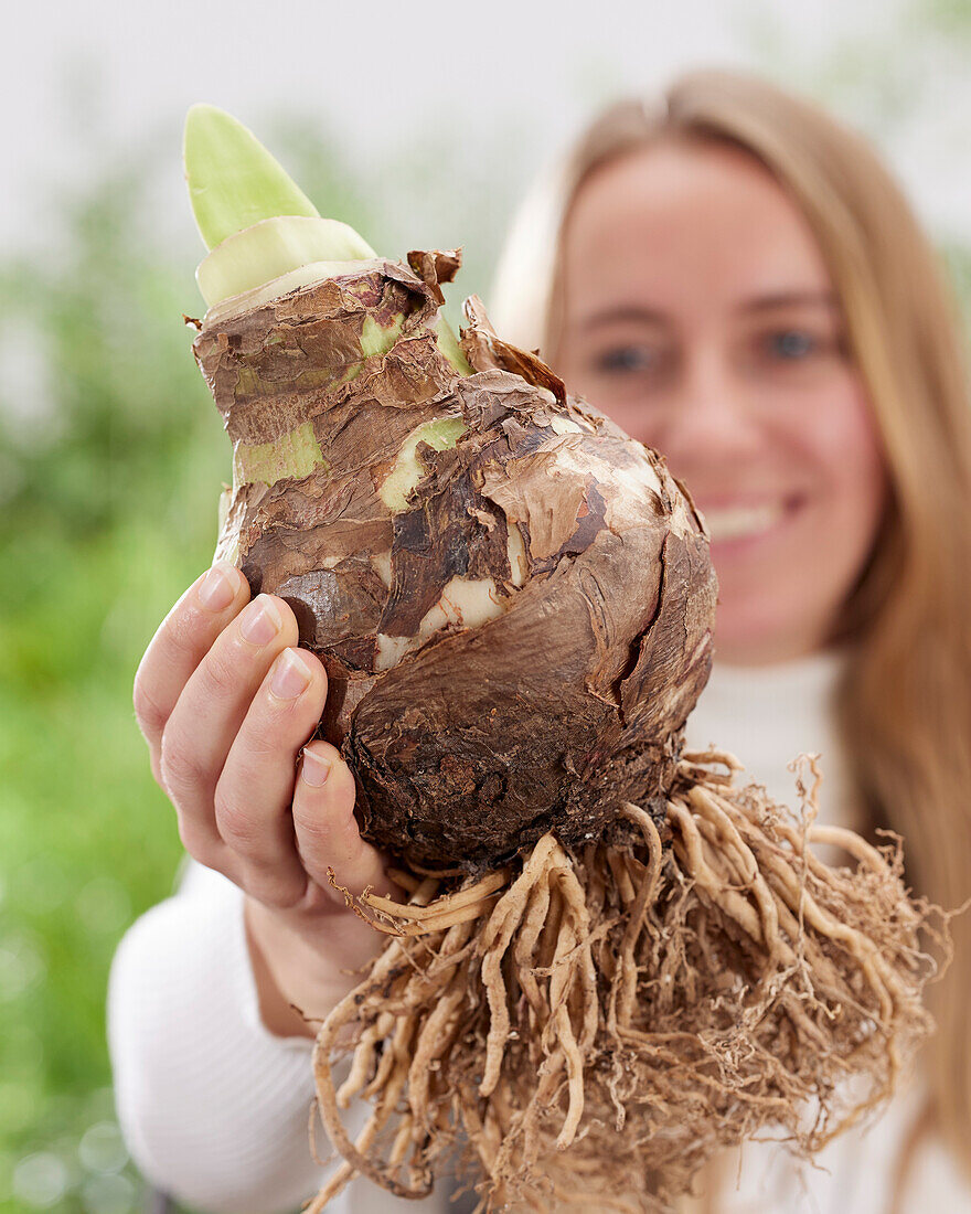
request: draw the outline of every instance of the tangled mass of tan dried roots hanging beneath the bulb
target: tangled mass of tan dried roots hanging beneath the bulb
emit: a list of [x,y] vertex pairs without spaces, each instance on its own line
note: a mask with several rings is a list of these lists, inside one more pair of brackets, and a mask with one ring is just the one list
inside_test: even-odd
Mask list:
[[345,1162],[311,1214],[358,1174],[426,1196],[459,1153],[481,1210],[663,1210],[721,1146],[768,1130],[811,1153],[881,1105],[931,1027],[931,910],[898,846],[812,824],[810,765],[801,819],[737,787],[731,756],[688,755],[665,822],[626,806],[630,844],[547,834],[479,879],[365,895],[391,938],[317,1039]]

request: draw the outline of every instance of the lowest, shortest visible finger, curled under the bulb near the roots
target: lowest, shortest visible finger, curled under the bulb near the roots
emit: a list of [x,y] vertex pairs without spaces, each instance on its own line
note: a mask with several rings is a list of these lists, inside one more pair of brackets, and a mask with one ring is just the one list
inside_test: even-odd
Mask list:
[[342,904],[328,868],[337,884],[351,894],[367,885],[387,885],[379,852],[360,838],[354,817],[354,777],[340,751],[328,742],[311,742],[303,749],[294,790],[294,829],[300,858],[307,873]]

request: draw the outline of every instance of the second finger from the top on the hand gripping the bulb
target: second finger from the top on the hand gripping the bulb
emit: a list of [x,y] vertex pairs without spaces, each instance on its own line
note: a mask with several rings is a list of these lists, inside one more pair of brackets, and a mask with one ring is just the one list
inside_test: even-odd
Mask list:
[[293,611],[282,599],[259,595],[212,642],[169,716],[161,779],[178,811],[182,841],[204,863],[197,849],[222,850],[212,798],[229,748],[277,654],[296,641]]

